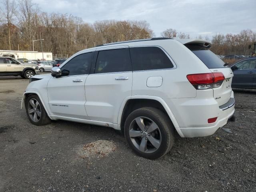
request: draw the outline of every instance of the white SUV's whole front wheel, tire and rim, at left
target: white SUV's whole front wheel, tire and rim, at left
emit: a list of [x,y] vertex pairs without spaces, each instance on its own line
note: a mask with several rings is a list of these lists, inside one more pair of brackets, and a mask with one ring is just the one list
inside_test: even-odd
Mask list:
[[26,113],[30,122],[34,125],[45,125],[50,123],[44,106],[37,95],[31,95],[26,99],[25,102]]

